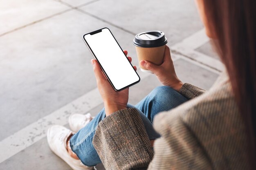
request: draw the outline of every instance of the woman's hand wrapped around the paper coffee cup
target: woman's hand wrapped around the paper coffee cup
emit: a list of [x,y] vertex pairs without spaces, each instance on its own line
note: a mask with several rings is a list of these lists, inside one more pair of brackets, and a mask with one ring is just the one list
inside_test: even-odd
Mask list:
[[161,65],[158,66],[146,60],[141,60],[140,65],[153,72],[164,86],[170,86],[174,90],[180,91],[183,83],[178,79],[175,73],[168,46],[165,46],[163,63]]

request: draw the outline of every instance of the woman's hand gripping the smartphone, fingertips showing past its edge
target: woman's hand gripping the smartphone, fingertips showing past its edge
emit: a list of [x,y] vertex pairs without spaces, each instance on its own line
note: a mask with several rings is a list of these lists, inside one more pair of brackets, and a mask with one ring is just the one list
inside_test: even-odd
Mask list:
[[[127,56],[128,52],[124,50],[124,53]],[[129,62],[132,62],[131,57],[128,57],[128,60]],[[99,66],[97,60],[92,59],[91,62],[97,80],[99,93],[101,94],[104,102],[106,116],[109,116],[118,110],[127,108],[129,88],[116,92],[108,79],[106,79],[105,75],[102,73],[101,67]],[[133,67],[136,71],[136,66]]]

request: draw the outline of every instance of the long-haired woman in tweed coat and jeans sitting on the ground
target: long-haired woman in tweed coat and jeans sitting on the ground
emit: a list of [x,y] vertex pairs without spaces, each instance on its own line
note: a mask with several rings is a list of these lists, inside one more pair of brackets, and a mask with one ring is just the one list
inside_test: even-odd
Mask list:
[[[140,62],[164,86],[134,107],[127,105],[128,89],[115,92],[92,60],[105,111],[75,135],[58,126],[47,135],[51,149],[73,169],[92,169],[87,166],[99,157],[107,170],[256,169],[256,2],[195,2],[226,71],[209,92],[183,84],[166,46],[162,65]],[[159,139],[148,121],[153,119]],[[79,158],[87,166],[79,167]]]

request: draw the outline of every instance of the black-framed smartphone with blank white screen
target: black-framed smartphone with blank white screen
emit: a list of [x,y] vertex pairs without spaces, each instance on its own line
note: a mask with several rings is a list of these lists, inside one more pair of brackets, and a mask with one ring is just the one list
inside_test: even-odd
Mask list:
[[83,40],[98,61],[115,91],[122,91],[140,81],[140,77],[108,28],[83,35]]

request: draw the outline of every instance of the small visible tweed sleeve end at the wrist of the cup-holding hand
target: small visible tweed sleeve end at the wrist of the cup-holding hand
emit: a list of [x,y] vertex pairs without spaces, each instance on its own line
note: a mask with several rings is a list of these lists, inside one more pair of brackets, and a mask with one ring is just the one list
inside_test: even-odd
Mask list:
[[180,94],[182,94],[187,99],[193,99],[204,94],[205,92],[206,90],[189,83],[184,83],[180,88]]

